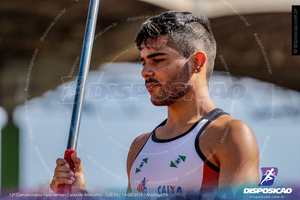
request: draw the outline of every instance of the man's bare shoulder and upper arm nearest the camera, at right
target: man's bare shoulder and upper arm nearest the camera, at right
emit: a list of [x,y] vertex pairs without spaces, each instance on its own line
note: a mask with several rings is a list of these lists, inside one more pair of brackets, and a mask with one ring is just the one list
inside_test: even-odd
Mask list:
[[248,174],[259,156],[257,140],[251,128],[229,115],[221,115],[213,122],[211,131],[206,135],[211,135],[209,148],[217,152],[213,160],[216,163],[213,164],[220,168],[219,186],[238,184],[241,180],[244,185],[257,185],[258,168]]

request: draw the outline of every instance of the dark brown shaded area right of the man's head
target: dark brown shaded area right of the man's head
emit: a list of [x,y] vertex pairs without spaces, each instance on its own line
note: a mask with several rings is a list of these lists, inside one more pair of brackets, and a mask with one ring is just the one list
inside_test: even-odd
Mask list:
[[[211,19],[217,41],[215,70],[224,71],[219,55],[229,67],[231,75],[249,76],[300,91],[300,57],[292,56],[292,14],[262,13]],[[262,43],[271,66],[269,74],[261,47]]]

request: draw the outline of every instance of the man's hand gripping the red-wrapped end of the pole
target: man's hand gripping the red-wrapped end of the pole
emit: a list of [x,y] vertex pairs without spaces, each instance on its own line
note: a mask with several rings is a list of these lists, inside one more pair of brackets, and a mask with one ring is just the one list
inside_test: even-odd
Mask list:
[[70,166],[66,160],[63,158],[56,160],[57,166],[55,167],[52,183],[50,184],[51,190],[55,193],[58,192],[58,186],[60,184],[72,184],[72,193],[85,191],[85,177],[81,160],[75,153],[71,155],[71,158],[75,165],[74,173],[69,169]]

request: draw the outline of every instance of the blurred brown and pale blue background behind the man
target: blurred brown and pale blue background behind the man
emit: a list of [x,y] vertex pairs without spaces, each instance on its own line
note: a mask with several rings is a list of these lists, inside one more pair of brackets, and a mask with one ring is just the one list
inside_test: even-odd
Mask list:
[[[234,103],[233,116],[249,124],[260,150],[270,136],[259,167],[277,167],[280,177],[274,184],[287,181],[299,188],[300,56],[291,51],[291,7],[297,4],[297,0],[101,0],[86,92],[89,83],[144,83],[134,38],[147,18],[168,10],[202,13],[211,20],[217,42],[210,86],[230,85],[220,60],[223,55],[232,82],[247,86],[246,96]],[[2,194],[49,191],[55,160],[64,155],[72,111],[72,104],[57,103],[66,87],[61,78],[78,74],[80,59],[78,63],[76,59],[81,56],[88,6],[89,1],[82,0],[0,1]],[[271,73],[254,34],[267,52]],[[127,187],[131,142],[161,123],[167,108],[152,106],[149,95],[123,101],[87,96],[77,147],[87,187]],[[217,96],[213,100],[231,112],[231,100]]]

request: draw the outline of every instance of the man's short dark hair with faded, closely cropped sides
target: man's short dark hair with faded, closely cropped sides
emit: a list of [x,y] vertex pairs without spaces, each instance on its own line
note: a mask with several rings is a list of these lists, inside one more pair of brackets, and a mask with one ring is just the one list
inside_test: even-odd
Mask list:
[[209,20],[190,12],[168,11],[144,22],[134,42],[141,51],[143,41],[146,46],[148,38],[157,39],[162,35],[168,36],[166,45],[176,49],[182,58],[187,59],[196,51],[205,52],[208,82],[216,57],[216,41]]

